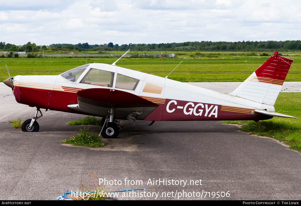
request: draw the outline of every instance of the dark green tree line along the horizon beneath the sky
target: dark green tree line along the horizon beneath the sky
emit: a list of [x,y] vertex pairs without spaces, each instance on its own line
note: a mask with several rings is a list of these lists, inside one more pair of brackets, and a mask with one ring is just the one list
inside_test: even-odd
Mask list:
[[50,44],[49,46],[37,46],[35,43],[28,42],[23,46],[5,44],[0,42],[1,51],[25,51],[38,52],[47,49],[67,49],[76,51],[296,51],[301,50],[301,41],[187,41],[183,43],[160,43],[160,44]]

